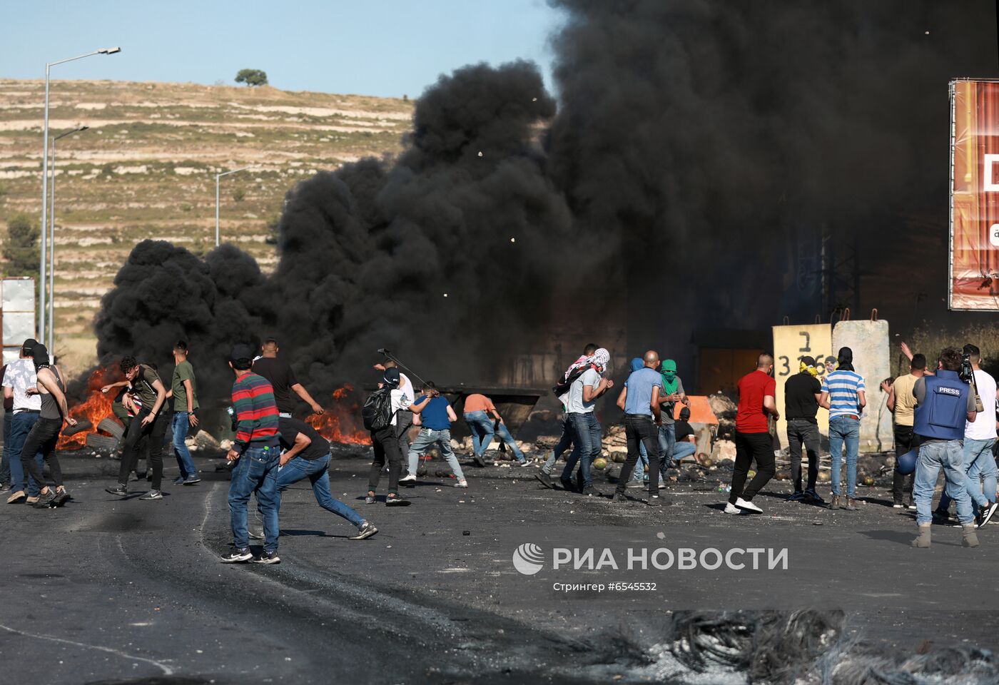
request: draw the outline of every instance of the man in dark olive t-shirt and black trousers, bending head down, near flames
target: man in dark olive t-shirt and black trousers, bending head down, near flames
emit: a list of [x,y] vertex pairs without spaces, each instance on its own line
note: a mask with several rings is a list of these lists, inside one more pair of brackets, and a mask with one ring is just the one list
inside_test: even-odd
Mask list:
[[164,404],[167,401],[167,388],[163,386],[159,373],[146,363],[139,363],[134,356],[122,357],[120,367],[142,402],[142,407],[132,417],[125,435],[125,451],[118,469],[118,486],[105,488],[119,497],[128,496],[128,474],[139,459],[142,438],[149,440],[149,462],[153,470],[152,489],[140,499],[163,499],[163,437],[167,432],[167,418]]

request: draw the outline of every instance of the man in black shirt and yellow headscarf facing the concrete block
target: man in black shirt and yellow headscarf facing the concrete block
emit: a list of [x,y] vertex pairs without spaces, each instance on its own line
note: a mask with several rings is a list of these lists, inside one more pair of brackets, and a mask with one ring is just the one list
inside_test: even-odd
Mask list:
[[[784,383],[784,416],[787,418],[787,443],[791,452],[791,478],[794,479],[794,492],[788,495],[791,501],[808,499],[823,503],[815,491],[818,477],[818,400],[822,396],[822,383],[815,376],[818,369],[815,359],[802,356],[799,370]],[[801,445],[808,451],[808,487],[801,490]]]

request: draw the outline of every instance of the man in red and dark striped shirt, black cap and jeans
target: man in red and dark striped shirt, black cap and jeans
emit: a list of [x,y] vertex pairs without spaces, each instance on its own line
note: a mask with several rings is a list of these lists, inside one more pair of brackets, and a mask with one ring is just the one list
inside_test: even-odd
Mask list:
[[[223,563],[253,561],[276,564],[278,556],[278,510],[281,496],[278,493],[278,406],[274,401],[274,388],[261,375],[250,370],[253,366],[253,348],[237,344],[229,354],[229,366],[236,374],[233,383],[233,411],[236,414],[236,439],[226,454],[235,461],[229,483],[229,514],[233,529],[233,549],[223,555]],[[250,533],[247,530],[247,502],[250,495],[257,497],[257,507],[264,517],[264,551],[259,557],[250,552]]]

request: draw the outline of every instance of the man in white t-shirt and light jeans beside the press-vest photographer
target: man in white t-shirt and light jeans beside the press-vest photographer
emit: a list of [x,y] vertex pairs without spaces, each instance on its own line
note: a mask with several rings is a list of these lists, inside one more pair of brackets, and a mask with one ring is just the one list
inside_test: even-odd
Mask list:
[[[996,422],[989,420],[996,415],[996,380],[983,371],[980,363],[981,350],[970,342],[962,350],[971,361],[975,374],[975,386],[982,402],[984,420],[965,423],[964,426],[964,470],[968,473],[968,495],[975,505],[976,527],[989,522],[999,509],[996,503],[996,460],[992,447],[996,441]],[[985,481],[984,492],[981,481]],[[946,491],[940,495],[937,511],[944,512],[950,506],[950,497]]]

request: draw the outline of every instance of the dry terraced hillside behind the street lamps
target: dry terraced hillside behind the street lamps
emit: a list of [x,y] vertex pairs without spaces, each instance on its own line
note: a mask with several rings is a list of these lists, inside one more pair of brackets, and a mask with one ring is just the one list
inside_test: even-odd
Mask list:
[[[394,155],[412,104],[356,95],[175,83],[53,81],[56,176],[56,350],[81,367],[95,355],[91,322],[132,247],[146,238],[196,253],[221,234],[276,263],[267,243],[286,191],[320,169]],[[18,212],[41,208],[42,81],[0,80],[0,240]]]

